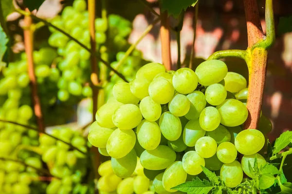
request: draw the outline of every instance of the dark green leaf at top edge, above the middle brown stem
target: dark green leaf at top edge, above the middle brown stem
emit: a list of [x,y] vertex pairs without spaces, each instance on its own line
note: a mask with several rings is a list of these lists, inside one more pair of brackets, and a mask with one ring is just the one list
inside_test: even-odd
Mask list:
[[162,11],[168,11],[168,15],[179,17],[182,10],[195,6],[198,0],[161,0]]

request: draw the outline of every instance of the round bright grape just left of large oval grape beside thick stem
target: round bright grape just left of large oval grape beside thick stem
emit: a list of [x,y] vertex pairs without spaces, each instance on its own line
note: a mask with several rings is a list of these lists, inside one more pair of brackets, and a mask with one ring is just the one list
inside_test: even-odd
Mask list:
[[219,111],[212,107],[206,107],[200,113],[199,123],[202,129],[206,131],[213,131],[218,128],[221,121]]

